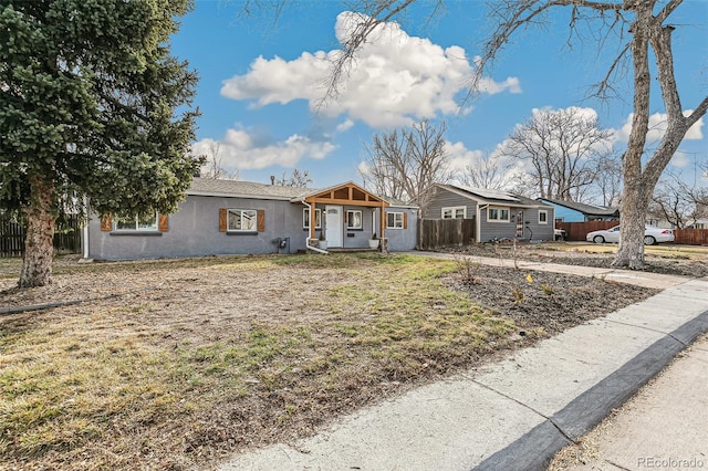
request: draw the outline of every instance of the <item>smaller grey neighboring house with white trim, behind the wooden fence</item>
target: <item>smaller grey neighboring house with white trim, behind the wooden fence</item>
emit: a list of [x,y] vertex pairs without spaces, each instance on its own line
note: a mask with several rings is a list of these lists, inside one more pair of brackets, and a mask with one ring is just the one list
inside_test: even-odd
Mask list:
[[472,219],[477,242],[553,240],[553,207],[499,190],[436,184],[423,219]]

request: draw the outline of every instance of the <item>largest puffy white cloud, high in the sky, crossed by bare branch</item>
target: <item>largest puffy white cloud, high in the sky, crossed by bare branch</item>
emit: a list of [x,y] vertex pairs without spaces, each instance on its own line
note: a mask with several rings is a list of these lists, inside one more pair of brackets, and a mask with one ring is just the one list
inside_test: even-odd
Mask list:
[[[340,13],[335,33],[341,43],[360,18],[357,13]],[[253,106],[306,100],[314,109],[324,94],[331,62],[340,53],[304,52],[292,61],[260,56],[247,74],[225,81],[221,94],[253,100]],[[321,112],[329,116],[345,114],[348,119],[377,128],[409,125],[438,113],[456,114],[460,112],[456,95],[466,90],[471,73],[462,48],[442,49],[428,39],[409,36],[397,23],[384,23],[358,51],[337,100]],[[520,93],[521,87],[516,77],[503,82],[485,78],[480,91]]]

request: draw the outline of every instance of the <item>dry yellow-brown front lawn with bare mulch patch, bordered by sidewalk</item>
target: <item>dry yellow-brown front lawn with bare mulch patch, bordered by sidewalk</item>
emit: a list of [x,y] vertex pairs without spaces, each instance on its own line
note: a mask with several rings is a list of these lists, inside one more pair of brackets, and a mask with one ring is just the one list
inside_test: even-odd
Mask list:
[[8,470],[207,469],[654,293],[354,254],[61,259],[50,286],[14,283],[0,305],[93,301],[0,316]]

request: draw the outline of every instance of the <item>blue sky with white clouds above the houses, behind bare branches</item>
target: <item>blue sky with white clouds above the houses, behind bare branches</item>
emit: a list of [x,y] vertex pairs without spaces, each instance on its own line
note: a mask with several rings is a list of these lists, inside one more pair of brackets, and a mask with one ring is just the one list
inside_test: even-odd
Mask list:
[[[534,109],[582,107],[615,130],[615,148],[626,144],[629,88],[624,103],[585,100],[612,57],[598,57],[590,42],[564,49],[563,14],[543,31],[518,35],[486,77],[486,91],[460,108],[461,84],[489,28],[483,3],[448,0],[445,14],[428,22],[431,2],[421,1],[362,51],[341,100],[315,112],[324,59],[340,49],[337,28],[347,24],[344,2],[288,2],[277,23],[270,11],[239,18],[241,4],[197,0],[173,38],[173,53],[200,76],[195,151],[209,154],[218,144],[222,166],[238,170],[240,179],[270,182],[270,175],[299,168],[310,172],[312,187],[361,184],[357,168],[373,133],[421,118],[446,119],[448,150],[458,167],[493,154]],[[673,36],[675,63],[683,106],[690,109],[708,93],[708,1],[687,0],[671,22],[680,27]],[[658,129],[663,112],[655,101]],[[685,178],[694,178],[696,163],[708,160],[704,122],[691,128],[670,165]]]

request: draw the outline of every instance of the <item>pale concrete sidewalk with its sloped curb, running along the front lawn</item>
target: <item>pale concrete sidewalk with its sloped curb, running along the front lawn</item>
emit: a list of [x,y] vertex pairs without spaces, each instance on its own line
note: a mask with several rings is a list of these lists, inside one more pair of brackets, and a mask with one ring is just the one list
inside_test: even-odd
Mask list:
[[[555,270],[602,275],[563,266]],[[314,437],[236,457],[220,469],[544,469],[558,450],[708,331],[708,279],[632,275],[637,284],[666,289],[502,362],[365,408]]]

